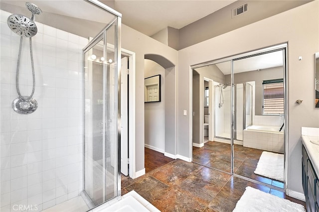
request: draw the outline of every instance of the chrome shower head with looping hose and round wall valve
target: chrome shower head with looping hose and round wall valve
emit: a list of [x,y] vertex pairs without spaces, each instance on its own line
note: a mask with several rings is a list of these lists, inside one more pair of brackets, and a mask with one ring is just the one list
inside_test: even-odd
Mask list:
[[[19,97],[13,100],[12,109],[20,114],[29,114],[36,110],[38,103],[32,98],[35,91],[35,74],[34,74],[34,64],[33,64],[33,54],[32,54],[32,37],[37,33],[37,27],[34,23],[35,15],[42,13],[41,9],[33,3],[26,2],[25,6],[31,11],[31,19],[21,15],[12,14],[7,19],[7,24],[9,28],[17,35],[20,36],[19,53],[16,66],[16,77],[15,86],[16,92]],[[29,38],[30,43],[30,58],[31,58],[31,68],[32,68],[32,92],[30,96],[22,96],[19,90],[19,66],[22,50],[23,37]]]

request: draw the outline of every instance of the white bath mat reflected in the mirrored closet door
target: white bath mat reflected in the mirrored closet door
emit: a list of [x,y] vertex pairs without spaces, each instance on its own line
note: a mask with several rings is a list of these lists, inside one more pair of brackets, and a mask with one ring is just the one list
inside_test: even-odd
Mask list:
[[284,182],[284,154],[262,152],[254,173]]

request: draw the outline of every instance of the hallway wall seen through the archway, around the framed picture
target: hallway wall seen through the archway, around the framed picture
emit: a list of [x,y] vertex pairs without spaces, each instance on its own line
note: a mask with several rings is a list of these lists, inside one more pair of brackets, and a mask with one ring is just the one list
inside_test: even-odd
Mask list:
[[165,69],[145,59],[144,77],[160,74],[161,102],[145,103],[145,147],[164,153],[165,148]]

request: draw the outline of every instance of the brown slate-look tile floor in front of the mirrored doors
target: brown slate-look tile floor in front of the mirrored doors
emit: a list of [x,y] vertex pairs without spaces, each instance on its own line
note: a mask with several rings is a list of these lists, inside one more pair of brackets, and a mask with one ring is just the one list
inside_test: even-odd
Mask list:
[[131,179],[122,175],[122,195],[135,190],[162,212],[231,212],[247,186],[305,205],[285,193],[182,160]]

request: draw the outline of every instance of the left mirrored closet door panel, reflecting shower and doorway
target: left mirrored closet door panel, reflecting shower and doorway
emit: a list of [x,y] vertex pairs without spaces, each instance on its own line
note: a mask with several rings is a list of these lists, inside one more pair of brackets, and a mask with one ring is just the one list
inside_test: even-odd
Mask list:
[[[193,69],[193,162],[231,173],[231,61]],[[201,99],[200,97],[203,97]]]

